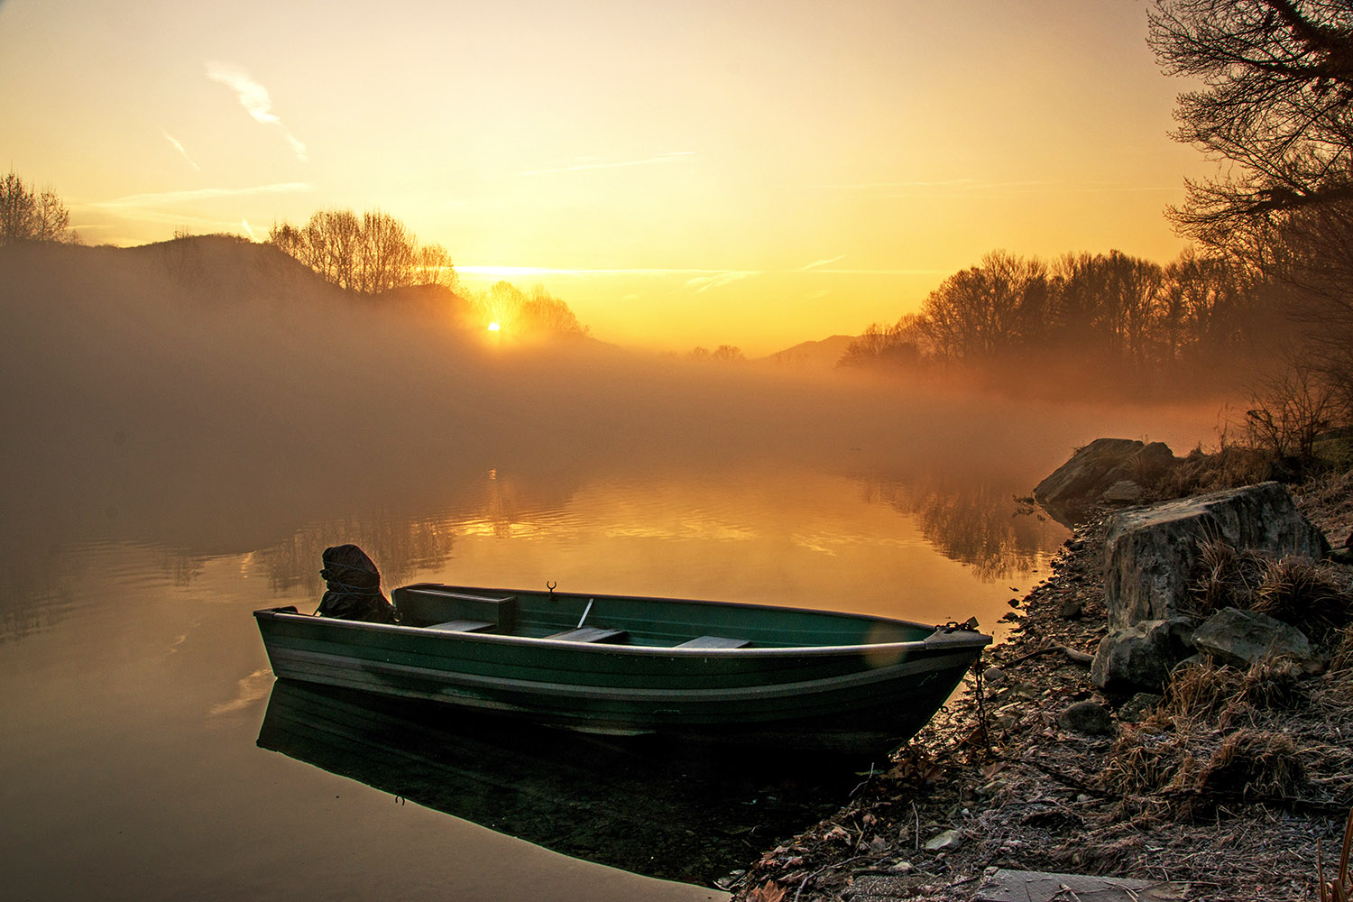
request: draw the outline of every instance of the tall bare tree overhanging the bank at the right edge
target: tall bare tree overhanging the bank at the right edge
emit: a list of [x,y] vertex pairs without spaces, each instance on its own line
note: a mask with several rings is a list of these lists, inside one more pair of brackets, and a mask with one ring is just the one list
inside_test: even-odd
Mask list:
[[1176,138],[1233,164],[1188,183],[1178,230],[1285,285],[1353,399],[1353,4],[1155,0],[1150,28],[1164,69],[1203,84],[1180,96]]

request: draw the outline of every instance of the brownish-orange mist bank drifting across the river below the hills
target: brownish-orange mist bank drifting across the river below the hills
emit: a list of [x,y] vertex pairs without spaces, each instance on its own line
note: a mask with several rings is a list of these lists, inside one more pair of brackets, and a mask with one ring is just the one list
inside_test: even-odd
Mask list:
[[227,238],[8,247],[0,334],[14,477],[0,529],[20,544],[256,548],[314,518],[474,503],[488,471],[538,503],[602,475],[747,461],[1027,491],[1100,434],[1183,453],[1219,408],[920,396],[594,341],[495,341]]

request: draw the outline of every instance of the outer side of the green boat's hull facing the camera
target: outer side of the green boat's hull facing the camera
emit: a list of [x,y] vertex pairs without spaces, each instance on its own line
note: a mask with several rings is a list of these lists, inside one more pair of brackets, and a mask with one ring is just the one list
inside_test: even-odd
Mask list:
[[[756,610],[774,609],[746,613]],[[936,632],[870,645],[681,649],[437,633],[285,610],[256,618],[279,678],[589,733],[843,752],[911,737],[989,642]]]

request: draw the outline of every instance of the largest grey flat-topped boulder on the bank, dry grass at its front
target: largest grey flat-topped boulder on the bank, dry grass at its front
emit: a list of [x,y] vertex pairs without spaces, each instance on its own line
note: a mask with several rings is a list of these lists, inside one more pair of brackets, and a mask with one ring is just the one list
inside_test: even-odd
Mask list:
[[1330,550],[1277,483],[1119,511],[1104,540],[1109,629],[1178,617],[1204,540],[1275,557],[1319,559]]

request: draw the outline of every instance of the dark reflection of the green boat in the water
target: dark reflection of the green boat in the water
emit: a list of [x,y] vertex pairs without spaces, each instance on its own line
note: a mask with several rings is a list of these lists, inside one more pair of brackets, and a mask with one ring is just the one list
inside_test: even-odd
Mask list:
[[575,734],[284,679],[258,745],[563,855],[705,886],[861,779],[840,759]]

